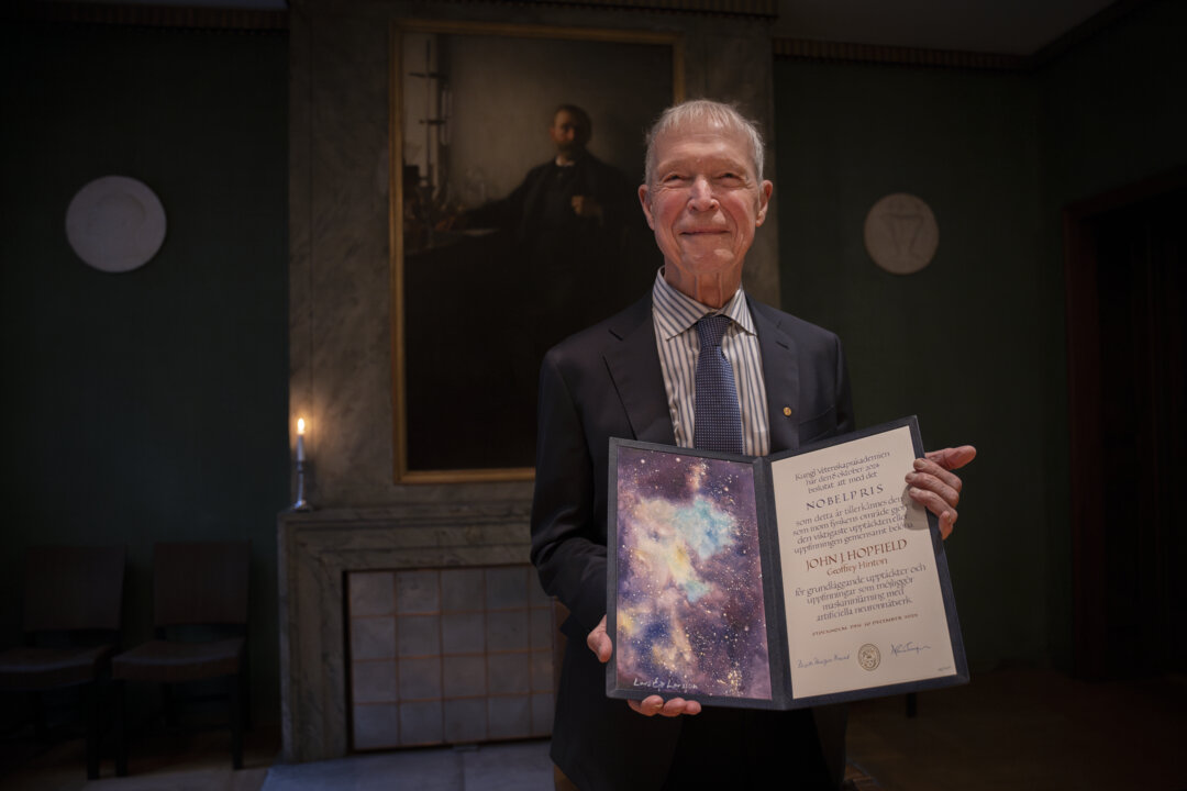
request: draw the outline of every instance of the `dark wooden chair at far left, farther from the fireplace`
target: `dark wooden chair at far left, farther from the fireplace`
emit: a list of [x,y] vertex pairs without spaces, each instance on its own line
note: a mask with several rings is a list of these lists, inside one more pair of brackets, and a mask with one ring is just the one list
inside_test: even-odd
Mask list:
[[0,689],[36,700],[46,733],[44,693],[80,687],[87,719],[87,777],[99,777],[100,684],[119,646],[123,547],[32,547],[25,555],[26,645],[0,653]]

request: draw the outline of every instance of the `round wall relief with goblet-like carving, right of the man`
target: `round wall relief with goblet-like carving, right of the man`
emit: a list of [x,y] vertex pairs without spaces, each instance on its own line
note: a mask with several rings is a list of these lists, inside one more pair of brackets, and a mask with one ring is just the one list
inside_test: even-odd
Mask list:
[[929,264],[939,243],[935,215],[913,194],[888,194],[865,216],[865,250],[874,263],[896,275],[909,275]]

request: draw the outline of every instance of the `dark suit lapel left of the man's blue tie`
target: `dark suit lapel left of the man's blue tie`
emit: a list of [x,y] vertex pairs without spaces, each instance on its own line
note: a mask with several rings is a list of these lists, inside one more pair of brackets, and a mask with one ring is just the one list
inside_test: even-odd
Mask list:
[[664,389],[664,372],[655,349],[650,292],[616,317],[610,326],[610,334],[617,343],[607,350],[605,366],[635,439],[675,445],[672,415],[668,413]]

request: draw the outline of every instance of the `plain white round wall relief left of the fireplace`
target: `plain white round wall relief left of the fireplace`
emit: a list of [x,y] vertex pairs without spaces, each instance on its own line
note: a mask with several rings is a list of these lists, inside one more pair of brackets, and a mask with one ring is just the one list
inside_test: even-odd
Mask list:
[[102,272],[131,272],[165,241],[165,208],[142,181],[95,179],[66,209],[66,238],[78,257]]

